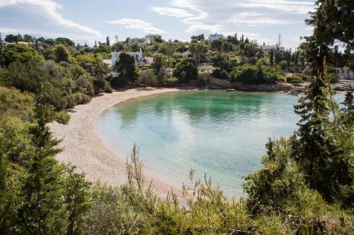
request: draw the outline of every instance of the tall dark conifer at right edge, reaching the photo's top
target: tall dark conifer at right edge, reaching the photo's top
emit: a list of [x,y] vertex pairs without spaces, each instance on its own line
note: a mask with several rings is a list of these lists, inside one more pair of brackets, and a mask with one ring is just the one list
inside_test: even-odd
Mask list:
[[[351,66],[353,60],[354,31],[353,1],[316,1],[316,11],[311,13],[311,18],[306,22],[314,27],[313,35],[305,37],[306,42],[301,45],[312,68],[312,79],[309,89],[299,99],[295,112],[301,117],[298,125],[299,131],[292,138],[295,159],[304,169],[312,188],[316,188],[326,200],[332,201],[333,191],[340,191],[341,183],[346,181],[341,162],[341,152],[331,138],[324,136],[324,126],[329,119],[328,107],[324,105],[324,88],[326,83],[326,58],[332,60],[333,44],[341,43],[346,47],[343,55],[344,61]],[[321,120],[317,119],[321,116]],[[345,170],[344,170],[345,171]]]

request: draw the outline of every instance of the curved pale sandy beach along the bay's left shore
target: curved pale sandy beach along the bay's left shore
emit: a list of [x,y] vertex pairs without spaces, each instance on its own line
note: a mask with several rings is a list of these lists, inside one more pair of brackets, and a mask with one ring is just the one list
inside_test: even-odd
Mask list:
[[[107,107],[118,102],[153,95],[162,92],[178,91],[176,88],[147,88],[115,91],[111,94],[104,93],[93,97],[89,104],[78,105],[69,114],[71,119],[67,125],[57,122],[50,123],[52,135],[62,139],[59,147],[63,148],[56,157],[65,164],[74,164],[79,172],[86,174],[89,181],[101,181],[113,186],[120,186],[127,181],[125,170],[125,156],[117,156],[104,143],[96,133],[95,123],[98,116]],[[144,171],[147,180],[153,181],[155,191],[160,196],[165,196],[171,191],[171,186],[158,179],[152,179],[149,172]],[[173,191],[180,194],[178,188]],[[178,192],[179,191],[179,192]]]

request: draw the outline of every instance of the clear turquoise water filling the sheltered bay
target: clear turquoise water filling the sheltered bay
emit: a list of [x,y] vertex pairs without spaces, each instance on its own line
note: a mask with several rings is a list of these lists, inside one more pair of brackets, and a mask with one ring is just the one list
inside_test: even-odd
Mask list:
[[136,143],[145,169],[161,181],[180,187],[195,169],[239,197],[244,176],[261,168],[268,137],[295,131],[296,103],[280,93],[170,92],[110,107],[96,128],[120,157]]

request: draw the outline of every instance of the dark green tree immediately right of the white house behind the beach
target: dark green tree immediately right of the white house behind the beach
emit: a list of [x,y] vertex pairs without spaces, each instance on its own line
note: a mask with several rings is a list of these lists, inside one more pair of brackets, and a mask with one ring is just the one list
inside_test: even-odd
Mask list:
[[138,69],[135,64],[134,56],[127,53],[121,53],[119,61],[116,62],[115,71],[119,73],[118,78],[113,80],[113,85],[121,86],[134,82],[138,78]]

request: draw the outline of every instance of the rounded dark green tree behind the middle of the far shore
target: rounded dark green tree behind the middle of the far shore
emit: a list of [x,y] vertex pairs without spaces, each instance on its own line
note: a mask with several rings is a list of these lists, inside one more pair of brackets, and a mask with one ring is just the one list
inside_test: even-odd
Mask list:
[[176,68],[173,69],[173,76],[178,78],[182,83],[188,80],[195,80],[198,78],[198,66],[195,59],[183,59],[176,64]]

